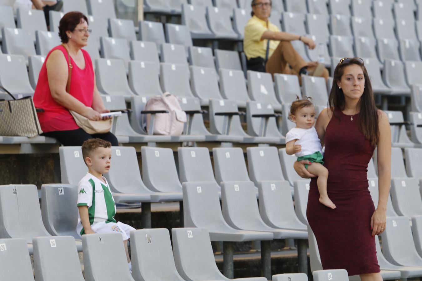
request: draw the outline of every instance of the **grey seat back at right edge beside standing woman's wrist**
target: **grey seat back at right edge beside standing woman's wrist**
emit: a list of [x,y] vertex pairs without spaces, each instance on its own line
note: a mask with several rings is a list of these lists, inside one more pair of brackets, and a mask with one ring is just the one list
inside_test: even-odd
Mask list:
[[422,215],[422,199],[419,192],[419,179],[392,178],[391,200],[399,216]]

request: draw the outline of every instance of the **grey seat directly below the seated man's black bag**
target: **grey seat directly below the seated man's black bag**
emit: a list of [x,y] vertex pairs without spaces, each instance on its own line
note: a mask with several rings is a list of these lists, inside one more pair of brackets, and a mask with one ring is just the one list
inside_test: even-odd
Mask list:
[[276,98],[271,73],[248,70],[247,77],[249,97],[257,102],[267,102],[273,106],[275,111],[281,111],[281,104]]

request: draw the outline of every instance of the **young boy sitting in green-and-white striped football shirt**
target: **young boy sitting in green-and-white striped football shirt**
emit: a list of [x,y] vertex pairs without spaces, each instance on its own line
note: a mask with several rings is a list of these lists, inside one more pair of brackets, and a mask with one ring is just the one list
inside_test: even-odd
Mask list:
[[78,226],[79,235],[92,233],[122,234],[129,270],[132,262],[127,250],[130,231],[135,228],[116,222],[116,204],[107,180],[111,164],[111,143],[103,139],[88,139],[82,144],[82,157],[88,166],[88,173],[78,184]]

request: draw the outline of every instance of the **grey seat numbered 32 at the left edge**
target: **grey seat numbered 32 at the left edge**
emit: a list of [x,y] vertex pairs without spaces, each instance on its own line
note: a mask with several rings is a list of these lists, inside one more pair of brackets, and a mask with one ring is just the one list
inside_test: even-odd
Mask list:
[[50,236],[43,225],[35,185],[1,185],[0,216],[0,237],[32,243],[35,236]]

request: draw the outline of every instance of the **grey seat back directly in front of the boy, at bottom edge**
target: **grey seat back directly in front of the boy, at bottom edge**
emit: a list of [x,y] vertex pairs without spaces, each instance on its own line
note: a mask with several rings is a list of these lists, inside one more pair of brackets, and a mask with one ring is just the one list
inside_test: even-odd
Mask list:
[[134,281],[127,266],[120,233],[83,235],[82,245],[86,281]]

